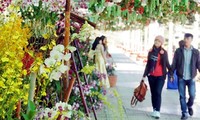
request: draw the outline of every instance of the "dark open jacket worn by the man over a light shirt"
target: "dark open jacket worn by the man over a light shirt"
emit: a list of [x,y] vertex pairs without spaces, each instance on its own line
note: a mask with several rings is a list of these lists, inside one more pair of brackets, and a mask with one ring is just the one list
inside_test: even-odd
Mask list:
[[[179,78],[183,78],[183,70],[184,70],[184,48],[176,49],[174,53],[174,59],[172,63],[172,73],[176,70],[176,74]],[[193,48],[192,49],[192,59],[191,59],[191,77],[195,78],[197,75],[197,69],[200,71],[200,54],[199,50]]]

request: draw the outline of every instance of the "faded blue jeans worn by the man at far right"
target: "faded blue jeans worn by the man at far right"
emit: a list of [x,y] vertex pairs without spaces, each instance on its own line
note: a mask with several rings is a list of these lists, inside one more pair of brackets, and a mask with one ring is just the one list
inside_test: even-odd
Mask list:
[[[186,86],[188,87],[188,92],[189,92],[189,100],[187,103],[186,103],[186,93],[185,93]],[[191,108],[192,105],[194,104],[195,92],[196,92],[195,81],[193,79],[191,80],[179,79],[178,90],[180,95],[182,114],[186,114],[188,112],[188,107]]]

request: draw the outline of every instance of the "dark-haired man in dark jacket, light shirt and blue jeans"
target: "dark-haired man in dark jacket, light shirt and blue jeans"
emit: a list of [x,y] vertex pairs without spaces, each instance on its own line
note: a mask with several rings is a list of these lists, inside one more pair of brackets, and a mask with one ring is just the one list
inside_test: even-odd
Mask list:
[[[186,120],[189,115],[193,115],[192,105],[195,98],[195,76],[197,75],[197,70],[200,72],[200,54],[197,49],[195,49],[191,42],[193,40],[193,35],[186,33],[184,36],[184,47],[178,48],[175,51],[172,71],[176,70],[178,76],[178,89],[180,95],[180,104],[182,110],[181,120]],[[186,86],[189,91],[189,100],[186,102]]]

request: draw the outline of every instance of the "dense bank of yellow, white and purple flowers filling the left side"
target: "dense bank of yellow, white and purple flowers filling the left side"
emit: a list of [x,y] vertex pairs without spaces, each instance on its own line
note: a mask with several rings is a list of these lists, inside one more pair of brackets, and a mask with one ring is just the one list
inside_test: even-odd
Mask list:
[[97,119],[105,75],[87,58],[96,24],[65,10],[69,1],[0,2],[0,119]]

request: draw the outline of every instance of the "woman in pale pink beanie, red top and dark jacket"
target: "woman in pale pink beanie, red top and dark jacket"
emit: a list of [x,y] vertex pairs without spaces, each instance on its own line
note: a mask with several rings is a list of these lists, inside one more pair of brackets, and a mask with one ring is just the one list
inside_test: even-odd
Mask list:
[[170,70],[167,51],[162,47],[164,37],[157,36],[154,45],[148,53],[148,60],[143,74],[143,80],[148,77],[153,107],[152,117],[160,118],[162,89],[165,83],[167,69]]

